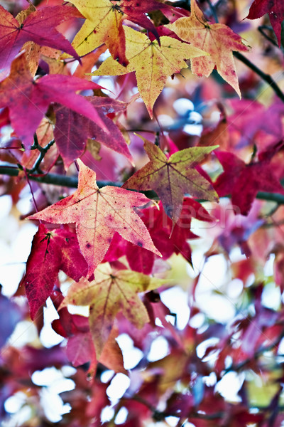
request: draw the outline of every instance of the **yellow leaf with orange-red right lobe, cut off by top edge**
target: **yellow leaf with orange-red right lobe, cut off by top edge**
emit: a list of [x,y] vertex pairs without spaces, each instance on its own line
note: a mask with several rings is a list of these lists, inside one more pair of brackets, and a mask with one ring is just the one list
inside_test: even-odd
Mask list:
[[128,64],[125,56],[123,15],[109,0],[71,0],[86,18],[72,41],[79,56],[94,51],[103,43],[119,63]]

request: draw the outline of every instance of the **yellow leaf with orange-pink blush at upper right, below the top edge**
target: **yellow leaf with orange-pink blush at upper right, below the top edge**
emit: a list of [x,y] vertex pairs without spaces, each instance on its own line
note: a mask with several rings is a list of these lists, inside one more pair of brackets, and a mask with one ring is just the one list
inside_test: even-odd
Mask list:
[[208,23],[196,0],[192,0],[190,6],[190,17],[180,18],[166,27],[173,30],[182,40],[210,54],[190,60],[192,73],[208,77],[216,65],[219,75],[222,75],[241,97],[233,51],[245,52],[248,48],[241,41],[241,37],[228,26],[223,23]]

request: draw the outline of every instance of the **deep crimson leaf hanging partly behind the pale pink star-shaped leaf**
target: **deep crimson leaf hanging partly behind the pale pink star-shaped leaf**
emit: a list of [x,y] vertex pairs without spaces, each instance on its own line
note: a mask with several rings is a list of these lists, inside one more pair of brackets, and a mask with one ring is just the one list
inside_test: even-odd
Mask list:
[[50,231],[40,224],[23,278],[32,319],[50,296],[59,270],[73,280],[87,274],[87,263],[80,253],[76,233],[66,228]]

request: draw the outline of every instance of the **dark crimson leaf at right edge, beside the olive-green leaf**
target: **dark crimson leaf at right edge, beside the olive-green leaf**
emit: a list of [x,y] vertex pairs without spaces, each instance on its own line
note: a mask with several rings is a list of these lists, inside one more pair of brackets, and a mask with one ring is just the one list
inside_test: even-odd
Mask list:
[[239,206],[240,214],[247,215],[258,191],[284,194],[283,186],[273,173],[270,159],[246,164],[230,152],[216,152],[224,172],[214,182],[220,197],[231,194],[233,206]]

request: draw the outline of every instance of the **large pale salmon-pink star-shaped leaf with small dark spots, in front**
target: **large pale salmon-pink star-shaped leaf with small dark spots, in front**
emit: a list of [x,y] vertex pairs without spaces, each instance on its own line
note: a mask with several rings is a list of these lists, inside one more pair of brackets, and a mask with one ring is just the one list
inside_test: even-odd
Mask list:
[[78,163],[77,191],[28,218],[50,223],[76,223],[77,237],[89,265],[89,275],[104,258],[116,231],[127,241],[160,255],[143,221],[133,211],[134,206],[143,206],[149,199],[143,194],[114,186],[99,189],[96,173],[80,160]]

